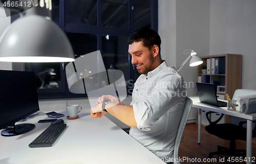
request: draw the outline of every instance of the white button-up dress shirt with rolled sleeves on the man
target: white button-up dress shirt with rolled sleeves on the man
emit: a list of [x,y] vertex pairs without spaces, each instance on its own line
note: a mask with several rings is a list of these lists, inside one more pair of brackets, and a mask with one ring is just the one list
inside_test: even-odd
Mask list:
[[130,135],[159,158],[172,158],[185,97],[182,76],[165,61],[140,75],[131,102],[137,128]]

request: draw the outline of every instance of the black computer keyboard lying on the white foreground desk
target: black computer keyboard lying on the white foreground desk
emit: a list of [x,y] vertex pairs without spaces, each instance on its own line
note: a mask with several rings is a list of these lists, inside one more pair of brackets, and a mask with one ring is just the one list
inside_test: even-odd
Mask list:
[[58,139],[67,124],[53,124],[43,131],[29,144],[30,148],[51,147]]

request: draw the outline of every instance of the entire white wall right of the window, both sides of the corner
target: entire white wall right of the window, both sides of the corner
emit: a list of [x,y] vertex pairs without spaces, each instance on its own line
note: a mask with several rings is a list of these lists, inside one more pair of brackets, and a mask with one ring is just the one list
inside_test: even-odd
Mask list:
[[[159,0],[158,10],[162,57],[167,63],[178,67],[186,49],[198,56],[242,54],[242,88],[256,90],[255,0]],[[186,82],[196,83],[196,68],[188,63],[180,73]],[[188,96],[197,95],[196,86],[186,90]],[[195,117],[192,110],[188,119]]]

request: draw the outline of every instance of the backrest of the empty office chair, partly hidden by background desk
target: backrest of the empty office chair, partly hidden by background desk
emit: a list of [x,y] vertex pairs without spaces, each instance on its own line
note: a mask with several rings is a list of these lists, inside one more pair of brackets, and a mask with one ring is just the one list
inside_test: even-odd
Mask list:
[[[237,89],[234,91],[234,95],[232,99],[237,99],[237,104],[240,104],[240,98],[239,96],[246,96],[246,95],[256,95],[256,90],[252,89]],[[239,125],[240,121],[246,121],[245,119],[237,118],[236,116],[230,115],[230,123],[234,125]],[[244,128],[246,128],[246,124],[243,125]]]

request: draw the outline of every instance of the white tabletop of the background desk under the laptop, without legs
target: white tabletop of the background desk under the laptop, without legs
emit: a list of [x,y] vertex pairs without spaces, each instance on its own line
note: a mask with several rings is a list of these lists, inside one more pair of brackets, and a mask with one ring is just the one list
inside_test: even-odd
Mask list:
[[230,110],[227,110],[227,107],[217,107],[214,105],[201,103],[198,96],[189,97],[189,98],[193,101],[192,107],[195,107],[195,108],[200,108],[200,109],[215,111],[215,112],[228,114],[228,115],[232,115],[232,116],[237,116],[239,118],[243,118],[243,119],[247,119],[247,120],[256,120],[256,113],[253,113],[253,114],[240,113],[240,106],[236,107],[237,110],[230,111]]

